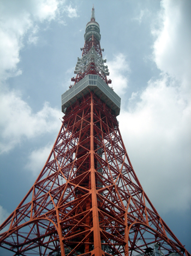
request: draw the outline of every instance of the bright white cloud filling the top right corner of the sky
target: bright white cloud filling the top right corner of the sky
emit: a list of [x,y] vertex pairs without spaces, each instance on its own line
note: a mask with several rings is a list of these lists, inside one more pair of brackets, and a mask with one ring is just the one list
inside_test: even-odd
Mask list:
[[190,93],[191,2],[163,0],[161,5],[161,26],[152,30],[153,35],[157,36],[153,45],[154,61],[160,70],[179,79]]

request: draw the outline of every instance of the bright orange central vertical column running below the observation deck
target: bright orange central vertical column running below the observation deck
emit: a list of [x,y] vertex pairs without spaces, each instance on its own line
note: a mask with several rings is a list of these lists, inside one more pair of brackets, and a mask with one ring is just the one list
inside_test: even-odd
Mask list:
[[93,217],[93,238],[94,254],[102,256],[102,243],[99,230],[99,214],[96,190],[96,175],[94,168],[94,143],[93,143],[93,95],[91,93],[91,134],[90,134],[90,153],[91,153],[91,193],[92,193],[92,217]]

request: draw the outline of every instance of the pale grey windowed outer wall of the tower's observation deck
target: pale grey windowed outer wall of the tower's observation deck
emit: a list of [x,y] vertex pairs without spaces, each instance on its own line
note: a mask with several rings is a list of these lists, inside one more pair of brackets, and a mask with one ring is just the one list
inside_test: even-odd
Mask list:
[[92,90],[116,113],[116,116],[120,115],[120,96],[118,96],[98,75],[85,76],[62,94],[62,112],[64,113],[65,108],[73,105],[76,99],[80,99],[83,95],[86,95]]

